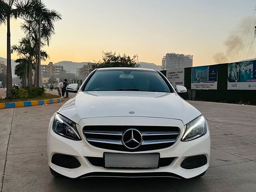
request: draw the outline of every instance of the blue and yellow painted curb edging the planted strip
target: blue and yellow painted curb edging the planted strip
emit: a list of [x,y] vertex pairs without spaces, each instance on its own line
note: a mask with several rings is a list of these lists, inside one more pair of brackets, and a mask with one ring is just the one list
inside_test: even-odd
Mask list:
[[59,103],[62,101],[64,101],[63,97],[56,98],[56,99],[37,100],[37,101],[20,101],[20,102],[12,102],[12,103],[0,103],[0,109],[52,104],[52,103]]

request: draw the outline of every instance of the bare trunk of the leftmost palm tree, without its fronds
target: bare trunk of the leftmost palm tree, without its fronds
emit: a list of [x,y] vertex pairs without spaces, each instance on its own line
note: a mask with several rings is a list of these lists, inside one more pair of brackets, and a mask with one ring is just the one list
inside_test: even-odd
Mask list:
[[7,17],[7,73],[6,73],[6,98],[12,99],[12,64],[11,64],[11,32],[10,16]]

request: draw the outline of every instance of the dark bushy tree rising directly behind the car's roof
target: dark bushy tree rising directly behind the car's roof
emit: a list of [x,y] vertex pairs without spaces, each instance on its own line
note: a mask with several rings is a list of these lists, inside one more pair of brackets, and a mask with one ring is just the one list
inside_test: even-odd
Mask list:
[[95,65],[92,65],[91,70],[96,68],[108,68],[108,67],[140,67],[138,62],[138,55],[132,57],[123,54],[116,54],[116,52],[102,52],[102,61],[96,62]]

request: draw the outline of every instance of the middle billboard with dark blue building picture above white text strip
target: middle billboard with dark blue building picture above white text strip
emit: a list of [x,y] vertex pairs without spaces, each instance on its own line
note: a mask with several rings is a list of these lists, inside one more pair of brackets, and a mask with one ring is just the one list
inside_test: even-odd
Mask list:
[[191,68],[191,89],[217,89],[218,65]]

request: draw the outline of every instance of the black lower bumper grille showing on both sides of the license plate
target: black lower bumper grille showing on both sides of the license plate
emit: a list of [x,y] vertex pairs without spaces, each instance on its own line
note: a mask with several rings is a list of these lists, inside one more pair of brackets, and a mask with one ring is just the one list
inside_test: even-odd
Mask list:
[[[86,157],[90,164],[98,167],[104,167],[104,158],[103,157]],[[172,163],[175,157],[166,157],[159,159],[159,167],[165,167]]]

